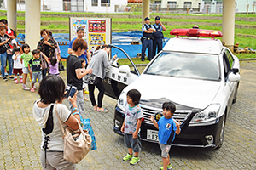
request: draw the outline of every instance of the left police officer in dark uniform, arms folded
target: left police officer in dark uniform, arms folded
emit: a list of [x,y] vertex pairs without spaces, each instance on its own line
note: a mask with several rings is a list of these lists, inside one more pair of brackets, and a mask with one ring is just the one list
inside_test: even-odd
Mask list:
[[145,51],[148,48],[148,60],[153,58],[153,33],[155,32],[154,26],[150,25],[150,19],[146,17],[143,25],[143,48],[142,48],[142,61],[145,60]]

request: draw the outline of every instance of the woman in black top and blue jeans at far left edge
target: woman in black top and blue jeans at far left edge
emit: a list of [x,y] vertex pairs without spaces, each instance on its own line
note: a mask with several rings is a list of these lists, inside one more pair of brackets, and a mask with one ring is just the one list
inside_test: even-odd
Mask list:
[[[5,25],[0,25],[0,54],[1,54],[1,73],[2,73],[2,77],[3,77],[3,81],[7,81],[7,78],[5,77],[5,73],[4,73],[4,68],[6,67],[6,59],[8,59],[8,63],[9,63],[9,70],[12,69],[12,65],[13,65],[13,60],[12,60],[12,55],[11,54],[7,54],[7,49],[9,49],[9,43],[10,43],[10,39],[9,36],[6,34],[7,31],[7,27]],[[11,74],[12,71],[9,71],[9,74]],[[9,75],[10,78],[11,75]]]

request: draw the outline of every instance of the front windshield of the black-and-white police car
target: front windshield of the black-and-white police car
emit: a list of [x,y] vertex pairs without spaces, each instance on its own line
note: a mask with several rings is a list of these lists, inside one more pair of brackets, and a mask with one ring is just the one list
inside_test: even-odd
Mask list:
[[218,68],[218,55],[163,52],[145,74],[218,80]]

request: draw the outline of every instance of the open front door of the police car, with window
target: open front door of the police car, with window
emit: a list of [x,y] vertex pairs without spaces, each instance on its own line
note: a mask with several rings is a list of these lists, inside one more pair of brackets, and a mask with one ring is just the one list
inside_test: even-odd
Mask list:
[[117,63],[114,62],[113,65],[108,66],[107,74],[103,81],[105,94],[113,99],[119,99],[119,95],[122,90],[131,84],[131,82],[135,81],[137,77],[139,77],[140,73],[125,50],[114,45],[110,46],[112,54],[117,54],[118,58],[120,57],[130,61],[129,66],[119,65],[118,61]]

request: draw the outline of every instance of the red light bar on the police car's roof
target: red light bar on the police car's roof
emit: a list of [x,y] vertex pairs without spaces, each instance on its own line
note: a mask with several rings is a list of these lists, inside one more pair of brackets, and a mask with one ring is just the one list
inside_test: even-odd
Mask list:
[[174,36],[187,36],[187,37],[222,37],[221,31],[214,30],[200,30],[200,29],[173,29],[170,31]]

